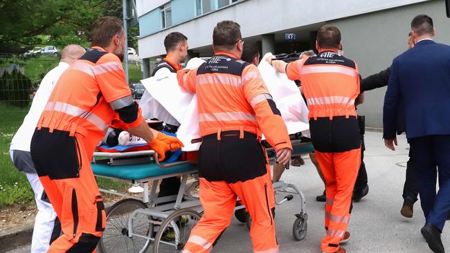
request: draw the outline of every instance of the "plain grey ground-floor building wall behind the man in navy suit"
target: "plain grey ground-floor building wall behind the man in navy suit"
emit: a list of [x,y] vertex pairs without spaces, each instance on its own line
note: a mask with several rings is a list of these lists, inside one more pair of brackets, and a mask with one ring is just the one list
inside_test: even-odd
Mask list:
[[[386,69],[397,55],[407,49],[411,20],[419,14],[433,18],[437,31],[435,41],[450,44],[450,19],[445,15],[443,0],[417,3],[327,23],[341,30],[345,56],[354,59],[359,65],[361,75],[366,77]],[[366,92],[364,104],[358,107],[359,113],[366,115],[367,127],[383,127],[385,93],[386,88]]]

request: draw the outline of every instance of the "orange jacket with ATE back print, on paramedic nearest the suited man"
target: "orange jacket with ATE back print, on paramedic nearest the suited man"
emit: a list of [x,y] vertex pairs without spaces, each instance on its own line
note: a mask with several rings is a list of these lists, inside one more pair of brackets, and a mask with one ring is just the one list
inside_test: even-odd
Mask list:
[[291,62],[287,77],[300,80],[307,98],[309,119],[356,116],[354,100],[359,95],[358,66],[334,51]]

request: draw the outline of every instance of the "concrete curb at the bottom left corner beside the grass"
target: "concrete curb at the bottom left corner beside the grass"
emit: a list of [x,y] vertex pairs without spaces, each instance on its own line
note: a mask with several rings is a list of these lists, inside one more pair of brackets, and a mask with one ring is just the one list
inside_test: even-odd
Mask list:
[[19,246],[30,244],[33,236],[33,225],[34,223],[30,223],[0,234],[0,252],[14,250]]

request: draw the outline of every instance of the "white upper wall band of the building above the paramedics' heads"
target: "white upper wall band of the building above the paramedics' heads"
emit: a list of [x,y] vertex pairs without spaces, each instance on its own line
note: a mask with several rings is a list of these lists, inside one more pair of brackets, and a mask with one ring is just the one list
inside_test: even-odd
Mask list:
[[[190,48],[208,46],[215,24],[226,19],[240,23],[244,37],[253,37],[423,1],[427,0],[345,0],[345,4],[330,0],[247,0],[152,35],[141,34],[139,54],[142,58],[162,55],[164,48],[161,41],[174,31],[189,37]],[[140,24],[154,26],[142,19]]]

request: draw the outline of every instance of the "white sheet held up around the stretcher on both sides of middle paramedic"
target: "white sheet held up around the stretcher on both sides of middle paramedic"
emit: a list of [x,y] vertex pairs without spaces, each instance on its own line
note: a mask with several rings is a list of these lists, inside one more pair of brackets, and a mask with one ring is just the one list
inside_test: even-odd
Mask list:
[[[203,59],[192,58],[186,68],[197,68],[203,63]],[[287,79],[286,75],[276,73],[269,64],[264,66],[266,64],[267,62],[261,61],[258,68],[286,122],[288,133],[302,132],[309,136],[308,111],[296,84]],[[180,122],[177,137],[185,146],[183,151],[199,150],[200,143],[191,143],[191,140],[200,138],[197,95],[184,91],[178,85],[177,75],[174,73],[150,77],[141,82],[150,95]]]

